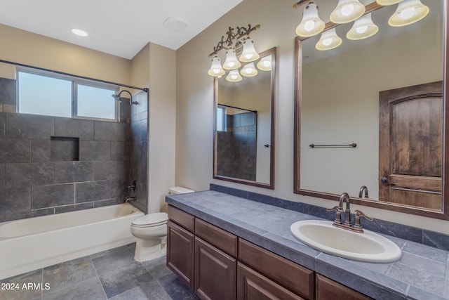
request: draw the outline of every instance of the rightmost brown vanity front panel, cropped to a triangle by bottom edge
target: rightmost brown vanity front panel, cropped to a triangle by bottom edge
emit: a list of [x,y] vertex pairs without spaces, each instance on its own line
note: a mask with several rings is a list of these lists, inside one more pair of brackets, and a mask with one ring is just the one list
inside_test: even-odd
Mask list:
[[316,300],[344,299],[344,300],[369,300],[364,294],[354,291],[349,287],[316,274]]

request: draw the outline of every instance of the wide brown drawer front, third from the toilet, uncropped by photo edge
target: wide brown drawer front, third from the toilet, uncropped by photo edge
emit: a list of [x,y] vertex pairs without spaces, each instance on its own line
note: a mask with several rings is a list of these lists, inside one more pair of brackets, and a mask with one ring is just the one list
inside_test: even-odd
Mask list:
[[314,298],[314,271],[239,238],[239,261],[306,299]]

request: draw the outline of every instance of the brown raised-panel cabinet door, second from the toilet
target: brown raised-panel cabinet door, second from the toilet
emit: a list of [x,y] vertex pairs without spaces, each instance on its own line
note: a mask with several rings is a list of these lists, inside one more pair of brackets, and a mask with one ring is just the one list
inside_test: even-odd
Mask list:
[[195,293],[201,299],[236,299],[236,259],[195,237]]

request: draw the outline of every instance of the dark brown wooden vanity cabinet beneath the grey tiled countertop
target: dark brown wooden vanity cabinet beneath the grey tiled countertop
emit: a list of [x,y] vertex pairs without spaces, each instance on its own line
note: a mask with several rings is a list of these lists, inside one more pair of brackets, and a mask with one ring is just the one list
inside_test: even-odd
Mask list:
[[170,205],[168,219],[167,266],[201,299],[371,299]]

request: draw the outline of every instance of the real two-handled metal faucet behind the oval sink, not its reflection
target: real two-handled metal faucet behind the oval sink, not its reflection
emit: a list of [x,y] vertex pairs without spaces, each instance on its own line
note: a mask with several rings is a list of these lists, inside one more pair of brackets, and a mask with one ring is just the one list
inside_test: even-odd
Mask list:
[[[344,207],[344,223],[342,222],[342,211],[343,211],[343,203],[346,203]],[[333,226],[344,228],[347,230],[355,231],[356,233],[363,233],[363,229],[360,223],[360,218],[363,216],[365,219],[369,221],[373,221],[374,219],[370,216],[366,216],[366,214],[363,214],[362,211],[356,209],[356,220],[354,221],[354,226],[351,223],[351,198],[349,197],[348,193],[342,193],[340,195],[340,198],[338,200],[338,206],[333,207],[331,209],[326,209],[327,211],[336,211],[335,215],[335,221],[333,223]]]

